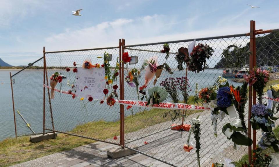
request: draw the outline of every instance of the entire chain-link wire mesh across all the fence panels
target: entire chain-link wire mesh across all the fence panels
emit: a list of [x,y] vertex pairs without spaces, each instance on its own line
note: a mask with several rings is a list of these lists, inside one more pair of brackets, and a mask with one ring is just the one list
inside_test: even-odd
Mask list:
[[[278,67],[276,67],[279,65],[278,37],[278,31],[273,31],[272,33],[258,35],[256,40],[257,66],[272,66],[274,68],[274,73],[271,74],[271,79],[278,79]],[[136,63],[128,63],[127,66],[125,66],[123,74],[124,79],[128,76],[130,70],[136,68],[141,71],[138,77],[139,87],[144,85],[145,68],[142,68],[142,65],[146,62],[145,59],[149,59],[153,56],[158,57],[158,65],[167,63],[173,72],[173,74],[170,74],[166,70],[163,70],[155,86],[160,86],[160,83],[166,78],[176,79],[185,77],[185,69],[181,71],[177,69],[175,56],[180,47],[187,48],[189,43],[193,40],[194,39],[124,46],[125,52],[128,52],[129,56],[136,57],[135,60],[137,60]],[[221,61],[221,53],[223,49],[232,44],[245,47],[245,50],[248,51],[249,41],[250,38],[247,34],[196,39],[196,43],[207,44],[213,48],[214,52],[213,56],[207,61],[208,68],[204,71],[199,73],[187,72],[190,90],[189,104],[193,103],[196,83],[198,83],[198,89],[200,90],[201,88],[212,85],[220,75],[222,76],[222,74],[224,74],[224,77],[233,77],[232,79],[228,79],[230,84],[234,86],[242,84],[235,82],[241,81],[241,78],[238,78],[237,72],[224,69],[223,61]],[[170,48],[170,55],[167,60],[165,59],[166,53],[161,52],[164,43],[168,43]],[[49,79],[54,72],[59,72],[60,75],[63,74],[67,78],[62,80],[61,85],[58,83],[56,88],[67,92],[71,89],[71,85],[68,83],[71,83],[71,80],[75,79],[76,75],[72,72],[73,62],[82,64],[83,61],[88,59],[92,63],[103,64],[103,59],[98,59],[97,57],[103,56],[104,52],[112,54],[112,61],[110,64],[117,63],[119,47],[46,52],[45,58],[48,75],[46,79]],[[246,59],[246,63],[249,63],[248,58]],[[32,66],[12,76],[15,110],[19,110],[28,122],[28,125],[30,125],[30,127],[28,127],[22,117],[16,113],[18,136],[33,134],[30,128],[32,128],[35,133],[43,132],[43,67],[44,60],[41,58],[33,63]],[[66,68],[71,68],[71,71],[66,72]],[[231,76],[228,76],[230,72]],[[129,86],[124,80],[124,99],[141,99],[142,94],[137,93],[139,87]],[[146,90],[151,87],[153,87],[153,80],[150,81]],[[68,94],[55,92],[55,98],[49,101],[47,88],[45,89],[45,128],[48,131],[53,129],[50,112],[50,110],[52,110],[53,125],[57,132],[70,133],[94,140],[119,144],[120,106],[118,104],[109,107],[105,103],[100,104],[99,101],[86,102],[87,110],[85,110],[83,101],[77,98],[72,99],[71,95]],[[119,89],[117,93],[119,93]],[[180,93],[179,100],[183,102],[183,97]],[[171,99],[168,98],[167,101],[171,101]],[[201,106],[201,104],[198,105]],[[183,111],[180,111],[180,115],[176,115],[177,117],[173,121],[174,113],[169,110],[147,109],[144,107],[132,107],[127,109],[126,107],[127,106],[125,106],[124,112],[124,139],[127,148],[133,149],[133,146],[137,146],[137,152],[173,166],[197,166],[195,149],[189,153],[183,150],[183,145],[187,144],[189,132],[171,130],[172,124],[179,125],[182,123]],[[248,147],[240,146],[235,150],[233,148],[233,143],[222,133],[221,129],[223,125],[233,121],[232,119],[229,120],[228,117],[225,117],[222,121],[218,120],[218,136],[214,137],[210,113],[211,111],[185,111],[187,117],[185,118],[184,124],[189,124],[189,120],[191,118],[196,118],[198,115],[202,121],[201,166],[210,166],[212,162],[215,163],[223,157],[236,161],[247,154]],[[248,120],[248,102],[246,104],[245,115],[245,119]],[[248,121],[246,121],[246,124],[248,125]],[[257,132],[257,134],[259,134],[257,137],[260,137],[261,132]],[[116,140],[113,139],[115,135],[118,137]],[[194,146],[195,139],[193,135],[190,141]]]

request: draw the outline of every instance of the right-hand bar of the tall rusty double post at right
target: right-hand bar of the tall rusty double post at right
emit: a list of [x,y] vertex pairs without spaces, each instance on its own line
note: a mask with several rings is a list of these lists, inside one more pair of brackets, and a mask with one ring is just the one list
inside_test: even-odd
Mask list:
[[[256,23],[255,21],[253,21],[253,30],[255,31],[256,27]],[[259,31],[260,32],[260,31]],[[253,33],[253,68],[256,67],[256,35],[255,33]],[[253,104],[256,104],[256,90],[255,90],[255,86],[253,86]],[[250,120],[250,119],[249,119]],[[253,129],[253,150],[255,150],[256,148],[256,130]]]

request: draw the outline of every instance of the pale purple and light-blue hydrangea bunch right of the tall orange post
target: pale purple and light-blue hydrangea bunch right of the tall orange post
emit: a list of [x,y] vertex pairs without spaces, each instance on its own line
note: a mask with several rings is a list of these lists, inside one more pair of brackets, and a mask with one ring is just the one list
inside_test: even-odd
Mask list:
[[262,129],[264,132],[271,132],[275,124],[272,120],[276,121],[278,118],[273,117],[273,112],[263,104],[255,104],[251,109],[251,124],[253,129]]

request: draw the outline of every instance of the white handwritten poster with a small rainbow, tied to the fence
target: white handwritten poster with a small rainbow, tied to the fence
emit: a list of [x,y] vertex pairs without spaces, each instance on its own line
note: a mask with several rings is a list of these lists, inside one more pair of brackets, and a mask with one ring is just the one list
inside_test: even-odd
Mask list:
[[76,73],[76,97],[103,99],[105,94],[105,68],[78,68]]

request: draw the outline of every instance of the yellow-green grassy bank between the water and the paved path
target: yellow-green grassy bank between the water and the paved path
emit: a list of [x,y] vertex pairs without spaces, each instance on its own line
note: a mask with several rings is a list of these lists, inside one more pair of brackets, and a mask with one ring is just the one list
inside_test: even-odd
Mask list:
[[[192,103],[193,97],[190,97],[189,104]],[[133,116],[125,117],[125,133],[134,132],[164,121],[170,121],[171,117],[163,118],[163,114],[166,111],[167,110],[162,109],[152,109],[136,113]],[[196,112],[199,111],[193,111],[192,114]],[[114,135],[119,135],[119,128],[120,121],[97,121],[77,126],[71,130],[70,133],[94,137],[97,139],[109,139]],[[59,134],[56,139],[42,141],[39,143],[31,143],[29,141],[29,137],[8,138],[0,142],[0,166],[5,167],[30,161],[32,159],[60,151],[70,150],[72,148],[93,142],[93,140],[65,134]]]

